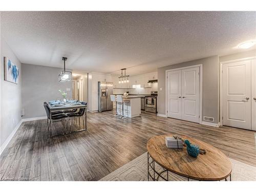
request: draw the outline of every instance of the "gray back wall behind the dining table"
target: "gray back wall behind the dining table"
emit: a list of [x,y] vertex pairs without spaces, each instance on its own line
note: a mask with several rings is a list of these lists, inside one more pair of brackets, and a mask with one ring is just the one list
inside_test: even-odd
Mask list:
[[72,81],[58,82],[61,71],[60,68],[22,64],[23,118],[46,116],[44,101],[63,99],[58,90],[66,91],[67,98],[72,98]]

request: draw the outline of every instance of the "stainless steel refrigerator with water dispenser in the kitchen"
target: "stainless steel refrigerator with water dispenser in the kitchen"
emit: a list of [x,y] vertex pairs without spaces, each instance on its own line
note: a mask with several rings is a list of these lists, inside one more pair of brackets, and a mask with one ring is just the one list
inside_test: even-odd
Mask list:
[[113,94],[113,82],[99,82],[99,112],[113,110],[110,95]]

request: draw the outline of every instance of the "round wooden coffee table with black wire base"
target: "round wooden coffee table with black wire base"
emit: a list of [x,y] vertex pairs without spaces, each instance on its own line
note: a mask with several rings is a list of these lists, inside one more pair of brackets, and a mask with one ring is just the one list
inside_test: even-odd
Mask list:
[[[189,179],[199,181],[220,181],[230,178],[232,165],[225,154],[214,146],[203,141],[181,136],[183,139],[188,139],[191,143],[197,144],[200,148],[204,148],[207,152],[204,155],[199,154],[197,158],[187,154],[186,147],[183,149],[167,148],[165,137],[173,135],[155,136],[147,142],[147,178],[158,180],[160,177],[168,181],[168,172],[178,174]],[[155,163],[159,164],[163,171],[158,173],[155,169]],[[154,174],[150,173],[150,169]],[[162,174],[167,172],[167,178]]]

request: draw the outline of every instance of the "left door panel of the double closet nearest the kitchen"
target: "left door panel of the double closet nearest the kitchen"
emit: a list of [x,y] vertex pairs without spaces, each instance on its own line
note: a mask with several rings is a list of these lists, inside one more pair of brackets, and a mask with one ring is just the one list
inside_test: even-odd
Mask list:
[[168,117],[181,119],[181,70],[168,72]]

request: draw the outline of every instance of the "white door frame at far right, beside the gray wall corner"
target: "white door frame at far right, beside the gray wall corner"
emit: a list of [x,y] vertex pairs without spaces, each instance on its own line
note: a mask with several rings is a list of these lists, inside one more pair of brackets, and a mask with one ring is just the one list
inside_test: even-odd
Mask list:
[[220,71],[219,71],[219,76],[220,76],[220,125],[223,125],[223,65],[231,62],[239,62],[239,61],[245,61],[245,60],[251,60],[255,59],[256,57],[246,57],[242,59],[234,59],[234,60],[229,60],[229,61],[223,61],[220,62]]

